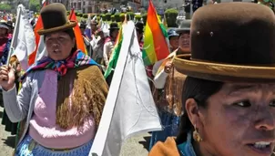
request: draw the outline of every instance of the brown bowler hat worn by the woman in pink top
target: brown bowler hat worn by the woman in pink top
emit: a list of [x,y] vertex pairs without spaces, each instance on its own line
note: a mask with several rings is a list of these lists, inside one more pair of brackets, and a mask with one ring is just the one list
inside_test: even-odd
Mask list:
[[64,31],[75,27],[76,22],[70,22],[66,16],[66,7],[60,3],[44,6],[40,11],[43,28],[38,30],[39,35],[46,35],[57,31]]

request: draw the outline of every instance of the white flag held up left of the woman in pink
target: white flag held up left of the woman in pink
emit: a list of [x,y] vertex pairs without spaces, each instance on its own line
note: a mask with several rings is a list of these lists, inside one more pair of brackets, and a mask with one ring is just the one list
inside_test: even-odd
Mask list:
[[29,23],[27,19],[27,13],[24,5],[18,5],[18,10],[20,18],[17,21],[17,26],[20,31],[13,38],[15,39],[15,52],[13,55],[17,57],[19,60],[21,67],[26,70],[28,68],[28,56],[35,50],[36,48],[36,37],[33,30],[33,26]]

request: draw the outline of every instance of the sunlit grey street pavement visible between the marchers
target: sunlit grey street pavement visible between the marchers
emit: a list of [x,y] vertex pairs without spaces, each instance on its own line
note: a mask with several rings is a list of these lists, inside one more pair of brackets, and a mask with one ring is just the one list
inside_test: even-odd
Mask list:
[[[0,118],[2,120],[3,108],[0,108]],[[0,122],[1,122],[0,120]],[[5,131],[5,127],[0,125],[0,156],[10,156],[14,152],[15,136]],[[139,134],[128,139],[121,150],[120,156],[146,156],[148,155],[148,144],[150,135],[148,133]]]

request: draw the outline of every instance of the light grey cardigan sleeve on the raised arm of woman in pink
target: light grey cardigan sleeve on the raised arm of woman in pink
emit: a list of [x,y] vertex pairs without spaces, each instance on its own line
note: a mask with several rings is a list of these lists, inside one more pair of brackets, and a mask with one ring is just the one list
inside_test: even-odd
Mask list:
[[12,122],[18,122],[24,120],[29,109],[31,100],[31,79],[25,78],[25,82],[22,85],[18,95],[16,95],[16,87],[10,90],[3,90],[3,101],[6,114]]

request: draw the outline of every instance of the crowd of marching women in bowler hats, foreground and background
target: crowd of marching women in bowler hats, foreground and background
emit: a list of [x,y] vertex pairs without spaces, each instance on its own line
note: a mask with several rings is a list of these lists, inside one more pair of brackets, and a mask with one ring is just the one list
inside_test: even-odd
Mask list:
[[[89,26],[80,22],[85,53],[76,48],[78,24],[68,20],[65,5],[46,5],[40,16],[44,27],[37,33],[45,38],[47,56],[24,72],[15,56],[7,60],[13,27],[0,21],[2,123],[18,136],[16,156],[88,155],[112,82],[112,74],[104,78],[103,73],[120,26],[111,23],[106,35],[96,20]],[[140,50],[144,25],[135,25]],[[168,57],[146,67],[163,128],[151,132],[148,155],[271,156],[272,9],[253,3],[205,5],[167,32]]]

